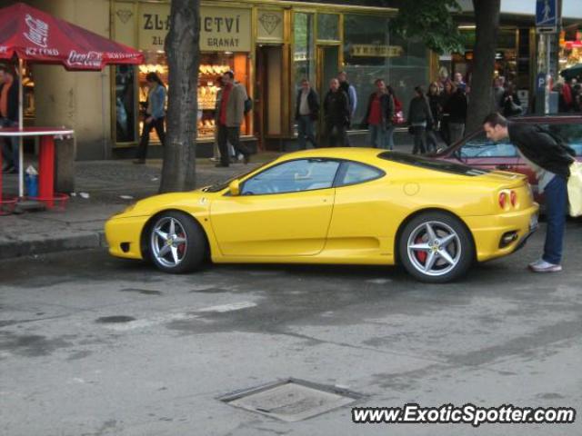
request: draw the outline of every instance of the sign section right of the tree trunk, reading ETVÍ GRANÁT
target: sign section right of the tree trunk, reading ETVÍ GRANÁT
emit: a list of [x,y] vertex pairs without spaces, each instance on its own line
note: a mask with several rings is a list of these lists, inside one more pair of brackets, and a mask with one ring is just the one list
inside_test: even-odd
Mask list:
[[250,52],[251,10],[231,7],[201,7],[200,50],[204,52]]

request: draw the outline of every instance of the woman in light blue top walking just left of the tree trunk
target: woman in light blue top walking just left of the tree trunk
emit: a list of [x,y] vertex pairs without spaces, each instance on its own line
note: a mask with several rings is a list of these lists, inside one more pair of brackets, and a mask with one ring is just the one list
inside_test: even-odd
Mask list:
[[134,163],[146,163],[149,134],[156,129],[157,137],[162,145],[166,144],[166,86],[156,73],[146,75],[147,82],[147,108],[142,137],[137,147]]

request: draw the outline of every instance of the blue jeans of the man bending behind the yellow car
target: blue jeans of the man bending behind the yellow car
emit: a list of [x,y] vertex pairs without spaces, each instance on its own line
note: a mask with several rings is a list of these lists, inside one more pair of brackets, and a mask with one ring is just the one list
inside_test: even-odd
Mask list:
[[547,263],[558,265],[562,260],[562,247],[566,227],[566,179],[556,175],[550,183],[547,183],[544,193],[546,194],[547,231],[542,259]]

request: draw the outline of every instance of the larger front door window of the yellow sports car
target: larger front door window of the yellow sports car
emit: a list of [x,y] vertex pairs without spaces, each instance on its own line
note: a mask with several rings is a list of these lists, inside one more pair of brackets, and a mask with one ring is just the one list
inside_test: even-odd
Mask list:
[[331,188],[338,167],[339,162],[325,159],[281,163],[248,179],[241,194],[296,193]]

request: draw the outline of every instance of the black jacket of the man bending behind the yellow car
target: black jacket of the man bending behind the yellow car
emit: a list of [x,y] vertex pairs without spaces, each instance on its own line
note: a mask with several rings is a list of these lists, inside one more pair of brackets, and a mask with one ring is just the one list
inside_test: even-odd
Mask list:
[[534,124],[508,123],[507,131],[509,140],[531,162],[564,178],[570,176],[569,166],[576,154],[547,130]]

